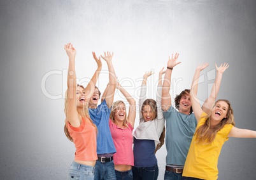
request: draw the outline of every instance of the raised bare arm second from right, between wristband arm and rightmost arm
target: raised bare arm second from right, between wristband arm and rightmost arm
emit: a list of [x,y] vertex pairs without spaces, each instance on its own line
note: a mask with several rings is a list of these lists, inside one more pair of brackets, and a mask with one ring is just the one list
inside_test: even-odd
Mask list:
[[204,68],[206,68],[206,67],[208,67],[208,63],[203,63],[202,65],[199,65],[196,68],[196,72],[194,74],[191,89],[190,89],[190,100],[191,100],[192,108],[193,108],[193,111],[194,111],[197,121],[200,119],[201,114],[203,113],[203,110],[202,110],[199,100],[197,98],[198,81],[199,81],[200,72],[202,70],[204,70]]

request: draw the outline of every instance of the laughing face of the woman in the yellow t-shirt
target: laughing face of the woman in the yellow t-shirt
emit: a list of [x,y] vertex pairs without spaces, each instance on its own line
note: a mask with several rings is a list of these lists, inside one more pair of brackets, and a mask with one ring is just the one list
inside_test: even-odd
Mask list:
[[227,117],[229,105],[225,101],[217,101],[211,111],[211,123],[216,124]]

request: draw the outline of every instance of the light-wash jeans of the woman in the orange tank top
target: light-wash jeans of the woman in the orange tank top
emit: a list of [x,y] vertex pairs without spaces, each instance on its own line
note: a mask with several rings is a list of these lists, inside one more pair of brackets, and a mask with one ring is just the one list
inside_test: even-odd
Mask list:
[[70,180],[94,179],[94,167],[73,162],[69,167]]

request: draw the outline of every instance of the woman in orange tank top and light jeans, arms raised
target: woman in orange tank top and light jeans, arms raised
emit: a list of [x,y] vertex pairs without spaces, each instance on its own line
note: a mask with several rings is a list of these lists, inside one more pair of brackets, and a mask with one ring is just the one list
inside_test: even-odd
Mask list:
[[[64,46],[69,57],[68,90],[66,91],[65,109],[66,120],[64,131],[70,141],[75,144],[75,160],[69,168],[69,179],[94,179],[94,165],[96,164],[96,125],[90,120],[88,101],[94,89],[97,72],[101,71],[101,61],[98,60],[96,73],[88,86],[76,84],[75,56],[76,49],[71,43]],[[93,53],[94,54],[94,53]]]

